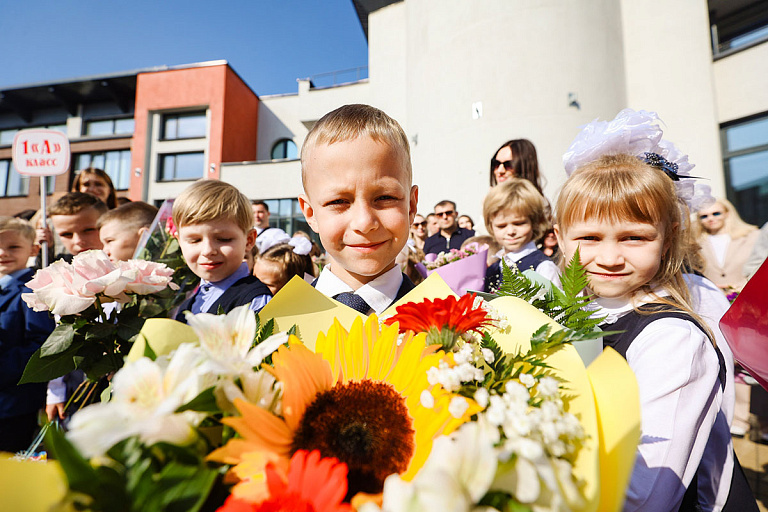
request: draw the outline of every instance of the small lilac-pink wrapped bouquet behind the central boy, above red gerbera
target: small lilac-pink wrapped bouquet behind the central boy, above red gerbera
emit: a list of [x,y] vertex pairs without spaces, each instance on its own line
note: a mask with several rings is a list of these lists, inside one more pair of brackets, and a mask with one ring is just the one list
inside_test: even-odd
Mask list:
[[482,290],[487,256],[488,245],[477,243],[438,255],[427,254],[427,275],[436,272],[459,295],[467,293],[467,290]]

